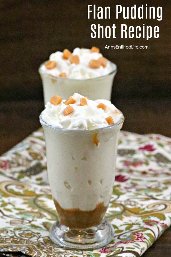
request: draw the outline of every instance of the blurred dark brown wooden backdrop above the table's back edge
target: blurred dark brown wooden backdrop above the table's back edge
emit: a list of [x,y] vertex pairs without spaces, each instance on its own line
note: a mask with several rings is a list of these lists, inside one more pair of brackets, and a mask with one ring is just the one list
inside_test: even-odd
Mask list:
[[[116,4],[162,6],[163,19],[115,19]],[[111,19],[87,19],[87,4],[110,6]],[[0,1],[0,100],[42,99],[39,65],[52,52],[98,46],[118,66],[113,97],[171,95],[171,1],[8,0]],[[117,39],[91,39],[90,26],[116,25]],[[158,25],[158,39],[121,39],[121,24]],[[148,45],[149,49],[105,49],[105,45]]]

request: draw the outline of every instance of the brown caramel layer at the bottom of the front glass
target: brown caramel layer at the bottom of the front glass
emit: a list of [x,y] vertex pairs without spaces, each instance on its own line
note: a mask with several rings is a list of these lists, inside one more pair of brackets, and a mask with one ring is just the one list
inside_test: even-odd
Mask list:
[[106,213],[107,206],[103,202],[96,205],[94,210],[82,211],[79,208],[63,209],[54,199],[60,223],[69,228],[89,228],[98,226]]

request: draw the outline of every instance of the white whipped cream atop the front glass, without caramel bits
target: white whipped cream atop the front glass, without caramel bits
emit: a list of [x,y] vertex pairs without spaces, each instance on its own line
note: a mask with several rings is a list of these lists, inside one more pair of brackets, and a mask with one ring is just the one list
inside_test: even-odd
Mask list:
[[[86,99],[87,105],[80,106],[80,99],[83,96],[75,93],[72,98],[76,101],[74,104],[70,104],[74,108],[74,111],[67,116],[63,114],[64,109],[68,106],[64,104],[66,100],[62,100],[58,105],[48,102],[46,108],[41,113],[41,123],[47,123],[54,128],[91,130],[108,127],[109,124],[106,118],[109,116],[112,117],[114,123],[123,117],[123,114],[110,101],[104,99],[95,101]],[[97,108],[99,103],[107,106],[105,111]]]

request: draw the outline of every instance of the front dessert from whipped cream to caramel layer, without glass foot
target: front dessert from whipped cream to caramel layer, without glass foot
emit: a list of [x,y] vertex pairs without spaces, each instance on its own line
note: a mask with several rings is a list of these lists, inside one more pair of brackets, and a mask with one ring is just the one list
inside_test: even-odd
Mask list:
[[111,102],[54,96],[40,115],[48,179],[61,224],[100,224],[113,190],[123,114]]

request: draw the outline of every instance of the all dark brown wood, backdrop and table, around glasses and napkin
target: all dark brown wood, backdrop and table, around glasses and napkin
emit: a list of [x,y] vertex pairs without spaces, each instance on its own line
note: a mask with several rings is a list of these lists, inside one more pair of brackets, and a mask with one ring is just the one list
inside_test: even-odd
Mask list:
[[[115,6],[162,6],[162,21],[115,19]],[[87,5],[110,6],[111,19],[87,19]],[[124,130],[171,137],[171,1],[1,0],[0,154],[40,127],[43,109],[39,65],[52,52],[95,45],[117,64],[112,102],[125,115]],[[92,23],[115,24],[117,39],[91,39]],[[159,26],[158,39],[121,39],[121,24]],[[148,45],[149,49],[105,49],[105,45]],[[171,229],[144,254],[170,256]]]

